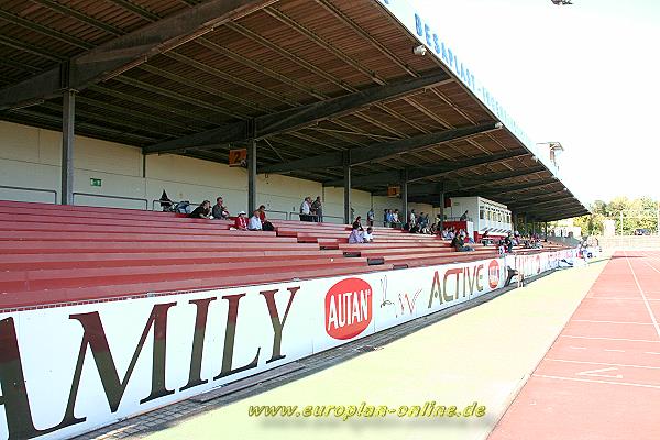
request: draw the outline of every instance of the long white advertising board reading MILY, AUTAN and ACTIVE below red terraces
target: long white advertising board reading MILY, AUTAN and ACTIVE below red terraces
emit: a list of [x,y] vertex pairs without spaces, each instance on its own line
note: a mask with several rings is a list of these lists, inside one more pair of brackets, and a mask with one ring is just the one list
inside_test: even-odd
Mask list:
[[504,285],[505,267],[484,260],[0,314],[0,439],[69,438],[185,399],[476,298]]

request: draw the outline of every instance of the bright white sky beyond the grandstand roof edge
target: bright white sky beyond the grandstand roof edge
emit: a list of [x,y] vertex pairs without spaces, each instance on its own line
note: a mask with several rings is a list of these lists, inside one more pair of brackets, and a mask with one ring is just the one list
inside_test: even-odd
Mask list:
[[410,0],[584,202],[660,199],[660,0]]

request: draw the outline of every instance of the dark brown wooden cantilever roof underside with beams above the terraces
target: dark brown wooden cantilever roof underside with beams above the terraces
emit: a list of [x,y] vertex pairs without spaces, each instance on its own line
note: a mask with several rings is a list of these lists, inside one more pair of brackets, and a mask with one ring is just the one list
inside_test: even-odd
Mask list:
[[586,213],[418,44],[373,0],[0,0],[0,119],[59,130],[73,88],[77,133],[147,154],[227,163],[255,136],[260,172],[341,186],[349,160],[376,194],[407,173],[411,200]]

